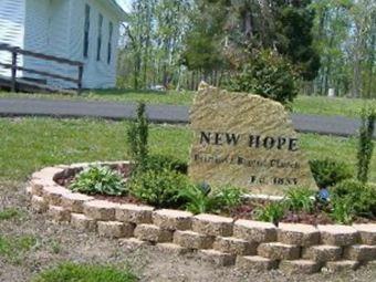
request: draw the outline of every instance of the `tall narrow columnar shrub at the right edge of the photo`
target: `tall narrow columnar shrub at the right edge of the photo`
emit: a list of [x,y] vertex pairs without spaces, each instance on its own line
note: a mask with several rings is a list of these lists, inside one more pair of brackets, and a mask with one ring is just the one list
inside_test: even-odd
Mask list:
[[357,179],[364,184],[368,181],[369,164],[374,152],[375,119],[376,109],[363,109],[357,152]]

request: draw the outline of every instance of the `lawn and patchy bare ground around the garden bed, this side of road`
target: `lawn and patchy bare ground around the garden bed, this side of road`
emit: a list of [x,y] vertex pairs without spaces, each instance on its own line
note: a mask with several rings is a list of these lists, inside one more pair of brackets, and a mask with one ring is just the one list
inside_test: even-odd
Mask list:
[[[137,281],[128,267],[145,278],[142,281],[152,281],[156,275],[163,278],[156,281],[166,281],[167,276],[175,278],[168,281],[177,281],[181,278],[177,269],[192,276],[192,281],[212,281],[218,276],[223,278],[218,281],[244,280],[243,275],[236,280],[228,269],[221,272],[202,267],[200,260],[177,259],[150,248],[132,250],[117,240],[52,224],[43,215],[30,212],[24,184],[33,171],[56,164],[127,159],[127,125],[98,119],[0,119],[0,281]],[[188,160],[191,140],[187,127],[150,128],[153,153]],[[355,168],[356,139],[304,134],[301,145],[310,158],[330,156]],[[376,152],[370,173],[370,179],[376,181]],[[376,275],[369,271],[374,270],[361,273],[366,278],[367,273]],[[275,274],[268,276],[269,272],[250,278],[253,275],[259,275],[255,281],[285,280],[275,279]],[[201,280],[202,276],[208,279]]]

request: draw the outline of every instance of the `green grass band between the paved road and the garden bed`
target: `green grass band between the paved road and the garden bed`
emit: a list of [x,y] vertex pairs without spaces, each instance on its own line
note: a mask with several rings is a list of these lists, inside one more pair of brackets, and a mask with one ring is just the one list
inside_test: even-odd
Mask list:
[[[0,181],[24,181],[33,171],[58,164],[127,159],[126,122],[96,119],[0,119]],[[153,125],[150,152],[187,161],[192,133],[187,127]],[[310,159],[331,157],[355,171],[355,138],[302,134]],[[370,166],[376,181],[376,150]]]

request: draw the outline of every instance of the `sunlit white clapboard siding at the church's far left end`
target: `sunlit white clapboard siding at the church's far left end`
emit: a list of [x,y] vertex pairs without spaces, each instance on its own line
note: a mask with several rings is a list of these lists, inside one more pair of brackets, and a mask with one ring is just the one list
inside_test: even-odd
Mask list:
[[[24,0],[0,0],[0,43],[23,46]],[[0,51],[0,62],[11,63],[11,54]],[[18,63],[23,64],[22,56]],[[10,70],[0,66],[0,75],[10,76]]]

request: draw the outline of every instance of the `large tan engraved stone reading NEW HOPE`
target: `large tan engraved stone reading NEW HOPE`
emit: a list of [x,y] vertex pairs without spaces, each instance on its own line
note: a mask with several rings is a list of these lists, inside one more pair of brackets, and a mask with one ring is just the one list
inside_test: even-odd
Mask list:
[[190,122],[194,180],[246,187],[250,194],[283,195],[292,186],[317,189],[280,103],[201,83]]

